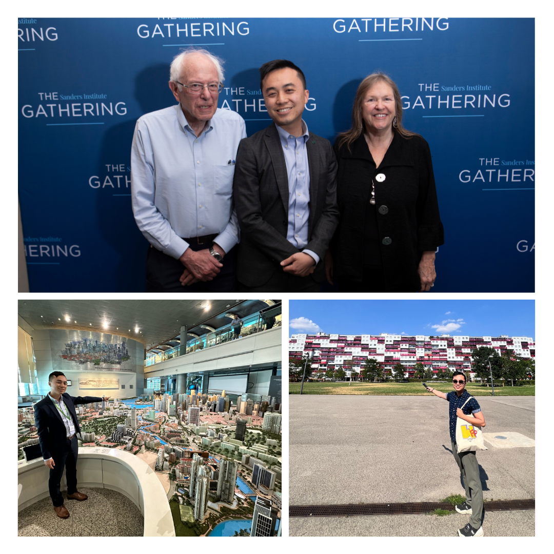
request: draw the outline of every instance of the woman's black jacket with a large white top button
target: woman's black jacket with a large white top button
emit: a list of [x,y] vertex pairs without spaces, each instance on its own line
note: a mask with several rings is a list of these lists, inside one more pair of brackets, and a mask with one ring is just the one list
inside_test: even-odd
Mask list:
[[[384,280],[390,291],[420,289],[417,272],[422,252],[444,244],[429,145],[415,135],[396,132],[378,168],[363,134],[338,147],[337,202],[340,223],[331,242],[334,277],[362,280],[363,221],[375,183],[375,206]],[[381,173],[383,181],[375,177]],[[381,208],[381,209],[379,209]]]

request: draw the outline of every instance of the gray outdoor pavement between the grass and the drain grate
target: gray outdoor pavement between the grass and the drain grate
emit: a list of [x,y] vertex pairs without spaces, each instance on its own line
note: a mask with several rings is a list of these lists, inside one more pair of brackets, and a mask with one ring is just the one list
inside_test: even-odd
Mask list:
[[[477,399],[486,432],[535,438],[535,397]],[[439,501],[464,494],[443,399],[290,395],[289,406],[291,505]],[[485,445],[489,450],[477,453],[485,499],[534,498],[535,448]],[[375,519],[362,519],[368,518]],[[290,521],[292,529],[300,520]],[[329,525],[331,519],[309,521],[305,525]]]

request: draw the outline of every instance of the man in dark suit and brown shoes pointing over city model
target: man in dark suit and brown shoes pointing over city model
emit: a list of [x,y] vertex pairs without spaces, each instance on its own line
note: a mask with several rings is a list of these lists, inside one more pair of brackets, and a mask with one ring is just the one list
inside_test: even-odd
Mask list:
[[65,392],[67,379],[61,371],[54,371],[48,376],[50,392],[34,405],[35,425],[37,425],[40,450],[44,465],[50,468],[48,489],[58,517],[66,519],[69,511],[64,506],[60,493],[61,475],[65,471],[68,485],[68,499],[86,500],[86,494],[77,491],[77,453],[76,434],[81,432],[75,404],[107,401],[108,397],[69,396]]

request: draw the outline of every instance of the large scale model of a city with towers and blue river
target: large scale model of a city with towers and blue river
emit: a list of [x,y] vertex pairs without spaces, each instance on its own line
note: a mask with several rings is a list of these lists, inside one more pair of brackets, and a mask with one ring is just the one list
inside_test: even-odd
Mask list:
[[[79,446],[125,449],[155,469],[181,534],[206,536],[222,522],[239,520],[245,529],[235,536],[280,535],[281,413],[275,398],[254,402],[243,394],[234,404],[225,391],[159,393],[85,404],[78,419]],[[38,443],[32,407],[18,410],[18,435],[22,459],[23,447]]]

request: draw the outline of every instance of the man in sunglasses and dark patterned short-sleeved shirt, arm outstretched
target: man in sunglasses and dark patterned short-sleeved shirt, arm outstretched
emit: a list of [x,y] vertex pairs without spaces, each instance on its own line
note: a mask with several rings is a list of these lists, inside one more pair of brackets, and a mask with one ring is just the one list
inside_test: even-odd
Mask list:
[[[483,489],[481,489],[481,479],[479,476],[479,464],[475,457],[475,452],[458,453],[456,444],[456,421],[458,418],[464,419],[476,427],[485,427],[485,418],[479,402],[465,390],[466,377],[464,373],[454,372],[452,384],[454,391],[445,394],[432,387],[427,387],[439,398],[444,398],[450,404],[450,444],[452,445],[452,454],[460,468],[460,474],[465,486],[465,502],[456,505],[456,511],[460,514],[470,514],[469,523],[458,530],[460,537],[482,537],[483,536]],[[464,406],[465,404],[465,406]],[[463,406],[463,408],[462,408]]]

